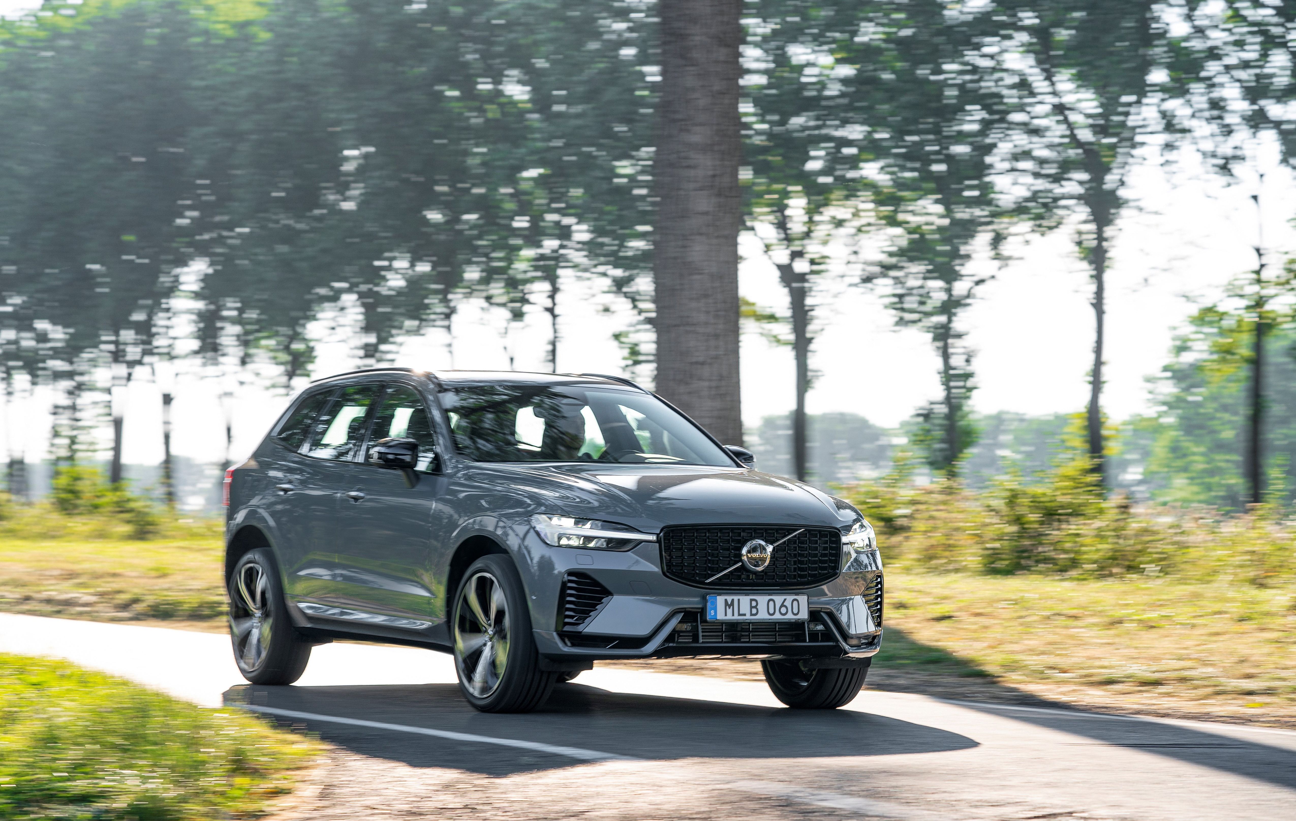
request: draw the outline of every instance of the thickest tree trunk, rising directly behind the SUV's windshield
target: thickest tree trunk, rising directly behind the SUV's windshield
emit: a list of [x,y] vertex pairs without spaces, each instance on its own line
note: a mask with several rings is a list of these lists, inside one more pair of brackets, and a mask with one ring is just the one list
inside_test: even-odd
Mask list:
[[657,390],[726,444],[739,396],[741,0],[662,0],[657,106]]

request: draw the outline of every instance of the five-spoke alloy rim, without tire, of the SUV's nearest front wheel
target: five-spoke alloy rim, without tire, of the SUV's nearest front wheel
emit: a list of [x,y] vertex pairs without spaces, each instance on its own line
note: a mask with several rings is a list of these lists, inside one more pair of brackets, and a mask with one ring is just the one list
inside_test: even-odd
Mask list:
[[459,680],[477,698],[499,687],[508,664],[508,603],[499,581],[474,573],[455,608],[455,664]]

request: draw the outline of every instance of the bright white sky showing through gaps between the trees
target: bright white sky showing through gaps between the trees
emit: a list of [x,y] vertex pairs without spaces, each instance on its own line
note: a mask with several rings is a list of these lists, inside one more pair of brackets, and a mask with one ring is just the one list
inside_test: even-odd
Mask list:
[[[0,0],[0,14],[35,4]],[[1108,348],[1104,403],[1116,419],[1150,409],[1147,379],[1165,363],[1172,337],[1198,303],[1218,298],[1225,284],[1255,266],[1257,191],[1265,206],[1265,244],[1280,263],[1296,252],[1292,176],[1277,169],[1271,150],[1257,161],[1267,170],[1262,188],[1256,176],[1229,185],[1200,173],[1169,174],[1147,163],[1130,185],[1134,206],[1120,222],[1108,280]],[[740,268],[743,296],[787,310],[778,275],[759,257],[759,245],[744,243]],[[1082,410],[1093,346],[1091,287],[1077,261],[1070,236],[1059,231],[1034,237],[1016,249],[1016,259],[999,270],[967,313],[968,342],[977,351],[975,407],[1048,414]],[[982,262],[981,265],[988,265]],[[822,326],[811,367],[822,376],[809,396],[811,412],[853,411],[894,425],[924,402],[937,398],[937,358],[927,337],[897,331],[880,300],[858,287],[836,284],[819,294]],[[610,313],[603,311],[603,307]],[[597,283],[572,283],[560,300],[559,368],[566,372],[621,374],[621,350],[612,333],[626,327],[627,314],[616,298],[599,293]],[[454,327],[454,366],[508,368],[498,316],[465,306]],[[412,340],[397,364],[450,367],[445,335]],[[537,309],[511,337],[517,370],[547,370],[547,315]],[[341,344],[321,348],[314,376],[355,367]],[[743,341],[743,415],[748,425],[793,405],[793,363],[788,349],[774,348],[750,333]],[[223,457],[224,387],[181,374],[175,385],[175,451],[218,462]],[[128,463],[161,460],[158,388],[132,387],[127,401]],[[285,403],[283,394],[255,387],[237,389],[232,403],[235,457],[246,454]],[[12,451],[29,459],[43,455],[48,438],[48,397],[13,409],[4,427]],[[106,431],[105,431],[106,433]]]

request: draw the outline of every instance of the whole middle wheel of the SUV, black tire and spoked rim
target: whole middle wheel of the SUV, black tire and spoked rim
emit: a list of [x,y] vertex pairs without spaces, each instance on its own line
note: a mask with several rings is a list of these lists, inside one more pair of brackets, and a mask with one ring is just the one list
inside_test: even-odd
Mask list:
[[561,674],[540,669],[522,577],[508,556],[482,556],[464,573],[451,634],[459,690],[482,712],[530,712]]

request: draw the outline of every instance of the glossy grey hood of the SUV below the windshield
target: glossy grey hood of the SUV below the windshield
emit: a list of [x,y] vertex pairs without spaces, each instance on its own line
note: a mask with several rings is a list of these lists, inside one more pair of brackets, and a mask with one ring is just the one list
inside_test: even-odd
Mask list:
[[[752,470],[674,464],[492,466],[557,515],[621,521],[645,533],[671,524],[841,527],[858,514],[833,497]],[[503,477],[500,477],[503,479]]]

